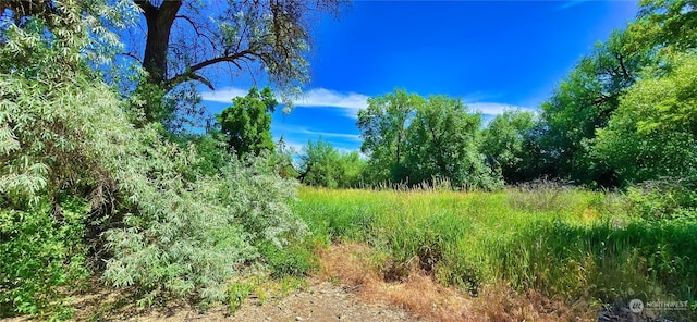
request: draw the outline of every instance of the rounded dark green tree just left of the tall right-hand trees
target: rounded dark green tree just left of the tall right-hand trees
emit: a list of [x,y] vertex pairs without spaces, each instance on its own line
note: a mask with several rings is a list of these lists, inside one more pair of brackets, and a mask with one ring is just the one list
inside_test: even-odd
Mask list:
[[487,163],[509,184],[537,178],[533,163],[536,125],[533,113],[508,110],[497,115],[482,133],[481,152]]

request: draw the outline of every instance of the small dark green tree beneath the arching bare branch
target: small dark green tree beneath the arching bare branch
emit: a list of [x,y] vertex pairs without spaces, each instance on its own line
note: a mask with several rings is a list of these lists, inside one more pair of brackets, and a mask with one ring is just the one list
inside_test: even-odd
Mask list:
[[269,87],[261,91],[253,87],[247,96],[232,99],[232,107],[216,114],[230,150],[240,157],[247,153],[258,156],[261,150],[273,151],[270,113],[276,106],[278,101]]

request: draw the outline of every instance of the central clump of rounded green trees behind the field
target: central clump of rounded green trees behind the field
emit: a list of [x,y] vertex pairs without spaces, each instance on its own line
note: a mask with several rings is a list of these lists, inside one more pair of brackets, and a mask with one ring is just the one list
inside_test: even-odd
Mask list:
[[360,149],[369,158],[366,179],[374,185],[449,181],[456,188],[498,188],[500,179],[478,150],[480,124],[481,116],[458,99],[425,100],[404,90],[370,98],[357,123]]

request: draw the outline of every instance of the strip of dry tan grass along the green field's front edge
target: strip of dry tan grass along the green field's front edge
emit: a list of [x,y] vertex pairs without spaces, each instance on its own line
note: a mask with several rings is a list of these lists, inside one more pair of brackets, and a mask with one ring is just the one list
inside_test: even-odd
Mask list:
[[395,268],[362,244],[332,245],[319,256],[320,278],[427,321],[594,321],[588,305],[564,305],[534,290],[516,294],[505,285],[488,285],[473,297],[438,284],[417,265]]

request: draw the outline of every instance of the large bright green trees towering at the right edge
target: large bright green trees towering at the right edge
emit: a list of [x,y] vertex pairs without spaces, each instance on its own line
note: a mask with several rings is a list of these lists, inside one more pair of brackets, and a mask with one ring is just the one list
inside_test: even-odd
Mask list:
[[542,104],[541,174],[626,187],[693,171],[695,4],[641,1],[578,63]]

